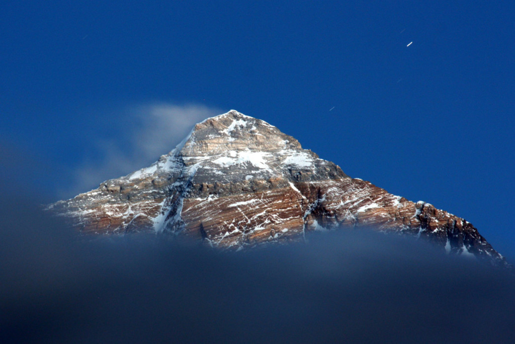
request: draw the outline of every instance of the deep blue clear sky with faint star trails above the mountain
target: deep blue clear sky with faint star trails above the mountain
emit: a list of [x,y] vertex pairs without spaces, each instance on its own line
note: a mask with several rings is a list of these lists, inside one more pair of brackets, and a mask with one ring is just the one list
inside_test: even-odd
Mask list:
[[4,4],[0,144],[31,162],[15,182],[73,196],[85,166],[104,174],[81,191],[119,176],[106,146],[142,154],[142,109],[236,109],[514,257],[515,3],[356,3]]

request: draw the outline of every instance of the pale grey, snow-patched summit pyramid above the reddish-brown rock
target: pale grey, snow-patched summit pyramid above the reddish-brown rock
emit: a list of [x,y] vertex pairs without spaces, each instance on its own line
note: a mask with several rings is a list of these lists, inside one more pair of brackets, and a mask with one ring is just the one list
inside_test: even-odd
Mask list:
[[196,124],[173,151],[128,178],[174,170],[198,183],[213,178],[219,182],[270,177],[298,181],[325,178],[328,173],[346,177],[334,163],[302,149],[295,138],[277,127],[236,110]]

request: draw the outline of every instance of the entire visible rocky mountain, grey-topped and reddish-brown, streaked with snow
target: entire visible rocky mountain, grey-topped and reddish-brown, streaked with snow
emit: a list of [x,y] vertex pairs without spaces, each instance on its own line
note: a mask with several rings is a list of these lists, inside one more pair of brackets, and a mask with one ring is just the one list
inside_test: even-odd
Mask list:
[[262,120],[231,110],[198,123],[151,166],[47,209],[84,234],[156,232],[223,249],[375,228],[493,265],[505,259],[466,220],[346,175]]

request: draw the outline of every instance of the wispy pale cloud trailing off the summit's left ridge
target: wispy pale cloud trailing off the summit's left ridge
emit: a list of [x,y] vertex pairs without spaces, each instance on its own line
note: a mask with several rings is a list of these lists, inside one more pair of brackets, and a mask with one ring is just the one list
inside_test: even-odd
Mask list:
[[61,191],[62,198],[150,165],[172,150],[194,124],[224,111],[195,104],[152,103],[130,106],[121,112],[126,129],[121,130],[122,134],[91,143],[95,158],[76,168],[74,185]]

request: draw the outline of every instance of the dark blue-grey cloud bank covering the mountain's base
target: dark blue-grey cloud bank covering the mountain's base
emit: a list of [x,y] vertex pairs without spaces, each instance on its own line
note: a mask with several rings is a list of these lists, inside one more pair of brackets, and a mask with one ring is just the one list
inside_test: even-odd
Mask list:
[[[22,206],[23,205],[23,206]],[[221,254],[1,204],[0,342],[513,342],[514,279],[365,232]]]

